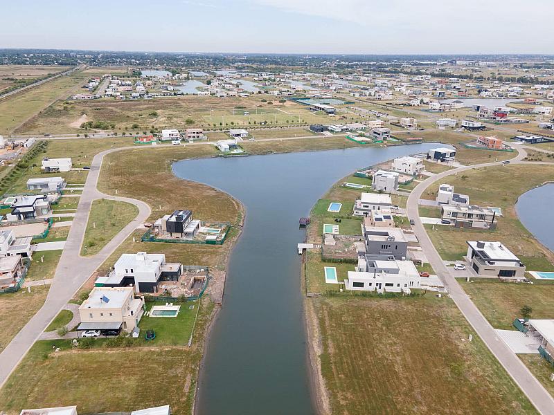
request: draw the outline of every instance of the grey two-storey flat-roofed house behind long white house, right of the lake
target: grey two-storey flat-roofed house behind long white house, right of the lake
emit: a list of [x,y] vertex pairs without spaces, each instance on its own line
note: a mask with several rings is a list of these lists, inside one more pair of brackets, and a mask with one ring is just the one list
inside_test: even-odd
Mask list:
[[367,259],[406,259],[408,240],[400,228],[362,226]]

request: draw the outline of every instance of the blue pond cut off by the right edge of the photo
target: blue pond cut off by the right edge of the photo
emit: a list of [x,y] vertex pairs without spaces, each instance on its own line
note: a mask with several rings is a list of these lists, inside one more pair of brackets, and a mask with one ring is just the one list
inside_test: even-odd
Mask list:
[[515,209],[521,223],[546,248],[554,251],[554,184],[536,187],[519,196]]

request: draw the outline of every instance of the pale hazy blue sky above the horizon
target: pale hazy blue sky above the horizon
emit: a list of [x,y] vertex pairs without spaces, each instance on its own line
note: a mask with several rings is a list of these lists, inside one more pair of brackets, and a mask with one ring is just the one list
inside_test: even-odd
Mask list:
[[0,0],[0,48],[554,53],[553,0]]

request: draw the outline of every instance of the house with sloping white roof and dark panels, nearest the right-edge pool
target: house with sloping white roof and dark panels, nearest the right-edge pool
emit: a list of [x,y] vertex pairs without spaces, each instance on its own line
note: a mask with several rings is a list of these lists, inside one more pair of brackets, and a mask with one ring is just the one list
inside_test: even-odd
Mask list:
[[501,242],[467,241],[467,261],[479,277],[525,277],[524,264]]

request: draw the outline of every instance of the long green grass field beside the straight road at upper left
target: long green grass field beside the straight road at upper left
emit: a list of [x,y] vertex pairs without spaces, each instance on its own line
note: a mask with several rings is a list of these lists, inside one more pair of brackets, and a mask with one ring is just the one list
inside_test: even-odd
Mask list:
[[[42,111],[55,100],[65,99],[75,93],[87,77],[79,71],[58,77],[36,88],[18,93],[0,101],[0,134],[28,131],[27,127],[17,129],[29,118]],[[48,133],[48,125],[37,133]]]

